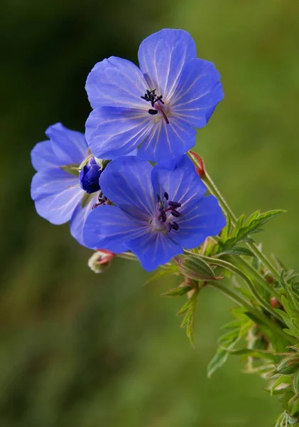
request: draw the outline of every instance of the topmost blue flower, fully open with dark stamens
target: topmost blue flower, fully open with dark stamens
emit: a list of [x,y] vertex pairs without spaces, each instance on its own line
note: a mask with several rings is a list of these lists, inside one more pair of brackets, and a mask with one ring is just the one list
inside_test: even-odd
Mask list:
[[94,155],[115,159],[141,144],[138,157],[158,162],[193,147],[195,128],[224,96],[214,64],[196,56],[189,33],[164,29],[141,43],[140,69],[115,56],[94,65],[86,83]]

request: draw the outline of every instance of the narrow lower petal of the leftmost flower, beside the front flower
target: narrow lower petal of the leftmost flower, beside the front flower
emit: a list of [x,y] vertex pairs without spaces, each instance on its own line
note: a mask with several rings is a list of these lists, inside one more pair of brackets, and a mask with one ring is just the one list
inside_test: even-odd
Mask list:
[[87,216],[89,216],[90,212],[92,211],[92,206],[97,203],[99,192],[89,194],[89,200],[87,204],[82,206],[82,201],[84,200],[85,196],[87,196],[87,194],[84,194],[83,192],[82,199],[77,203],[77,206],[75,207],[75,210],[72,214],[72,218],[70,219],[70,233],[72,237],[83,246],[85,246],[83,241],[83,227],[85,225],[85,221],[87,220]]

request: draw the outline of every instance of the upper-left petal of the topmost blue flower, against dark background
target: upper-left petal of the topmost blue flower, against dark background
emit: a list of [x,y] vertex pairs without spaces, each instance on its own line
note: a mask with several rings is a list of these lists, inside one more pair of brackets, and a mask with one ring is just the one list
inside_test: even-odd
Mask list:
[[92,108],[146,108],[141,96],[148,85],[141,70],[129,60],[111,56],[94,65],[85,89]]

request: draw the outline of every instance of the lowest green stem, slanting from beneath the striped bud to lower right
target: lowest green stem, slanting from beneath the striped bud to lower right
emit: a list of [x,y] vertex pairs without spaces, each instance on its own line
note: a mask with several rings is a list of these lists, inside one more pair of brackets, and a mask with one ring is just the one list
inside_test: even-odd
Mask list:
[[248,310],[252,315],[254,315],[254,317],[261,320],[261,323],[263,323],[264,325],[267,325],[269,329],[271,329],[275,334],[280,335],[284,340],[288,340],[292,344],[295,344],[295,342],[297,342],[295,339],[285,334],[285,332],[283,332],[283,330],[281,330],[281,328],[278,325],[276,325],[276,323],[272,322],[268,317],[263,315],[262,312],[252,307],[246,300],[244,300],[244,298],[240,297],[235,292],[233,292],[226,286],[222,285],[222,283],[219,283],[217,281],[213,281],[213,282],[211,281],[208,283],[208,285],[213,286],[214,288],[217,288],[218,290],[223,292],[225,295],[227,295],[229,298],[237,302],[239,305],[241,305],[242,307],[245,307],[246,310]]

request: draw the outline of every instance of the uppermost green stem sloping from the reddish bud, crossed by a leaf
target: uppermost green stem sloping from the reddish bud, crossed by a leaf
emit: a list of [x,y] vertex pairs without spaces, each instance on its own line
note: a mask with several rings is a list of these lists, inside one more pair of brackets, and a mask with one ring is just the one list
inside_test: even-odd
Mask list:
[[[235,226],[237,223],[237,218],[234,215],[234,212],[232,211],[232,209],[230,208],[229,204],[224,199],[220,191],[217,189],[217,186],[214,184],[214,181],[212,180],[210,175],[207,174],[207,172],[205,172],[205,174],[202,176],[202,181],[205,182],[207,189],[210,191],[210,193],[213,194],[215,197],[217,197],[219,204],[222,207],[224,213],[229,217],[230,221],[232,222],[232,226]],[[251,248],[251,251],[254,253],[254,255],[256,255],[256,258],[259,258],[261,260],[261,263],[263,263],[263,265],[266,265],[266,268],[268,268],[268,270],[274,275],[274,277],[280,280],[281,278],[280,273],[278,273],[278,271],[273,266],[271,261],[268,260],[266,255],[264,255],[261,252],[261,250],[256,245],[256,243],[247,243],[247,245],[249,246],[249,248]]]

